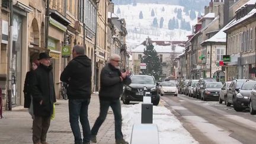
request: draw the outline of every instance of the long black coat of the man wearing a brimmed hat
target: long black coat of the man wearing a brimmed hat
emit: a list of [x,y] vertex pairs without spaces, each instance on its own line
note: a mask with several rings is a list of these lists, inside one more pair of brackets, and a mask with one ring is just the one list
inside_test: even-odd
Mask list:
[[[52,67],[42,64],[33,71],[31,80],[31,95],[35,116],[49,117],[53,113],[53,103],[56,102],[55,85]],[[43,103],[40,105],[40,101]]]

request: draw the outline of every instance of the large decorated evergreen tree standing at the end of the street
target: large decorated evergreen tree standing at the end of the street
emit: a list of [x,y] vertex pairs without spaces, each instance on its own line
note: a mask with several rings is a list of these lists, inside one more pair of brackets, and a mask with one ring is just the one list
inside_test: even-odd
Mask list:
[[142,71],[143,75],[152,75],[155,79],[159,79],[162,75],[162,66],[153,44],[149,44],[143,54],[142,62],[146,63],[146,69]]

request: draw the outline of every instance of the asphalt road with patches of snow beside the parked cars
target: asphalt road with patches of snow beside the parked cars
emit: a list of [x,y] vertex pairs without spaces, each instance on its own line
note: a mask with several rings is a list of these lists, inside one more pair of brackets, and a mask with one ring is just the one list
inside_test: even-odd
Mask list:
[[199,143],[256,143],[256,116],[249,110],[236,112],[218,101],[185,95],[161,99]]

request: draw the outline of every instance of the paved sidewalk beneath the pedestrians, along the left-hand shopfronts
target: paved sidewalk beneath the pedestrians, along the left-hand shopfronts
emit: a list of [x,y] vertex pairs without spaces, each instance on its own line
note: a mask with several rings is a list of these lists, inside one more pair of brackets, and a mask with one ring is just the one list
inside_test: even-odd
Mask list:
[[[47,142],[50,144],[74,143],[73,134],[69,125],[68,101],[57,100],[55,107],[56,117],[51,121],[47,134]],[[92,94],[89,104],[89,122],[92,127],[98,117],[100,104],[98,95]],[[111,108],[108,110],[107,119],[101,126],[97,136],[98,143],[113,144],[114,116]],[[12,111],[4,111],[4,119],[0,119],[0,143],[33,143],[32,119],[27,109],[15,107]],[[81,129],[82,132],[82,129]]]

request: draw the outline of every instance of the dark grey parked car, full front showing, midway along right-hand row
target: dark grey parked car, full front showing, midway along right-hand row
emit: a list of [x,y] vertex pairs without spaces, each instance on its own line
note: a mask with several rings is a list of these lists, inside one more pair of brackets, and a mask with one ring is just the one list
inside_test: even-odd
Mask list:
[[221,82],[205,82],[203,88],[201,88],[201,100],[219,100],[221,88]]

